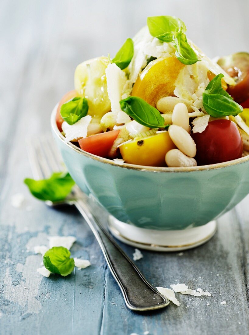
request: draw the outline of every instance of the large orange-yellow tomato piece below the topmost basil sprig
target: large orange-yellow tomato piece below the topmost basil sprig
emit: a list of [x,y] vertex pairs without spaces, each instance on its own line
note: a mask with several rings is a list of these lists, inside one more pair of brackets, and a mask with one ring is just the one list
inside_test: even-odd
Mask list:
[[184,66],[175,56],[150,62],[136,80],[132,95],[156,107],[159,99],[174,95],[175,81]]

